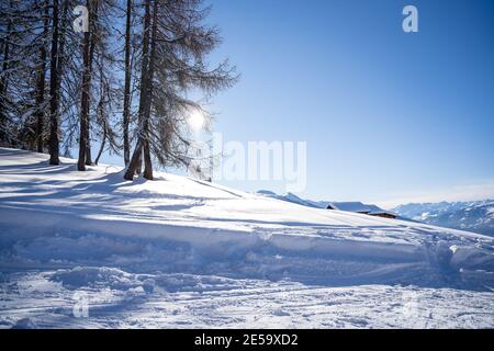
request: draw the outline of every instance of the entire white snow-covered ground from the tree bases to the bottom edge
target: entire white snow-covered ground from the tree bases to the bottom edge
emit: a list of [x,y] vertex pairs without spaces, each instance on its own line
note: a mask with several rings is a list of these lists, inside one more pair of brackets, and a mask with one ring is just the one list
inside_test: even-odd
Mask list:
[[47,159],[0,148],[0,327],[494,327],[491,237]]

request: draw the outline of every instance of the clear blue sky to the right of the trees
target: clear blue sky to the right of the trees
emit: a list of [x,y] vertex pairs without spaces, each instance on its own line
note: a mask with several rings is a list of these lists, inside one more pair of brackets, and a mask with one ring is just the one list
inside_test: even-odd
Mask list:
[[[494,197],[494,1],[214,0],[225,140],[307,143],[313,200]],[[419,32],[402,10],[418,8]],[[229,181],[283,192],[282,182]]]

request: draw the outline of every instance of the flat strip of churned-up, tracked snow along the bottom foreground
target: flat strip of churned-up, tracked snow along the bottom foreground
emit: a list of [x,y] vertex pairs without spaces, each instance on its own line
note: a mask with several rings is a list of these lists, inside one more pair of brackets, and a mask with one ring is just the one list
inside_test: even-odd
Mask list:
[[[57,272],[16,274],[2,283],[2,327],[492,328],[494,318],[492,293],[453,288],[161,274],[151,275],[156,285],[145,292],[135,276],[120,288],[104,280],[104,287],[80,282],[86,285],[76,288],[54,281]],[[76,291],[85,294],[88,318],[74,317]]]

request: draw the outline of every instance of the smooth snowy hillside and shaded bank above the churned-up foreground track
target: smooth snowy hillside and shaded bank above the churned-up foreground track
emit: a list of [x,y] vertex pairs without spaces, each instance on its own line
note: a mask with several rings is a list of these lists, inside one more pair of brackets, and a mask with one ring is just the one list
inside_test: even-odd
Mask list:
[[493,285],[492,238],[0,150],[2,270],[114,267],[348,285]]

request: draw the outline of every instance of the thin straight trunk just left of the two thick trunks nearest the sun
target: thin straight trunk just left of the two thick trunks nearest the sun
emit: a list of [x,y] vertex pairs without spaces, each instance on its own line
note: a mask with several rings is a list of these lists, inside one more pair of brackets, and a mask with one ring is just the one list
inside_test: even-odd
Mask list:
[[128,166],[131,160],[131,145],[128,140],[128,123],[131,118],[131,18],[132,0],[127,0],[127,11],[125,20],[125,87],[123,105],[123,147],[124,162]]

